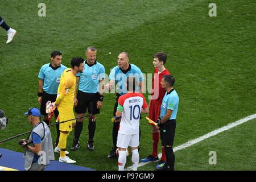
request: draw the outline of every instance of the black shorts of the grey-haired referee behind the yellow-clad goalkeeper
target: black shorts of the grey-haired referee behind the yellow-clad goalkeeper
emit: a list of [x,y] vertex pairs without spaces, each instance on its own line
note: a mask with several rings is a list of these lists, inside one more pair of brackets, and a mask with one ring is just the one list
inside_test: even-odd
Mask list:
[[97,102],[98,102],[98,97],[100,94],[97,93],[85,93],[79,90],[77,92],[77,106],[75,107],[75,112],[77,114],[82,114],[86,113],[86,110],[88,110],[88,113],[90,114],[90,108],[89,104],[90,102],[93,102],[93,111],[92,114],[99,114],[100,109],[97,109]]

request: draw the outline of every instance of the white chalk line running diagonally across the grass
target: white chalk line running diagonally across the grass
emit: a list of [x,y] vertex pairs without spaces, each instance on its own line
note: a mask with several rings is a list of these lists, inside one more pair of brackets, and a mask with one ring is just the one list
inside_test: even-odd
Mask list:
[[[217,134],[219,134],[219,133],[221,133],[221,132],[223,132],[223,131],[232,129],[233,127],[236,127],[236,126],[238,126],[238,125],[241,125],[242,123],[245,123],[245,122],[247,122],[247,121],[250,121],[251,119],[254,119],[254,118],[256,118],[256,113],[255,113],[255,114],[252,114],[252,115],[249,115],[249,116],[247,116],[246,118],[240,119],[240,120],[238,120],[238,121],[236,121],[236,122],[229,123],[228,125],[223,126],[223,127],[221,127],[220,129],[213,130],[213,131],[211,131],[210,133],[205,134],[205,135],[203,135],[203,136],[201,136],[201,137],[199,137],[199,138],[196,138],[196,139],[193,139],[193,140],[189,140],[188,142],[186,142],[186,143],[184,143],[184,144],[181,144],[180,146],[174,147],[174,152],[179,151],[179,150],[184,149],[184,148],[187,148],[187,147],[190,147],[190,146],[192,146],[193,144],[199,143],[199,142],[201,142],[201,141],[203,141],[203,140],[205,140],[205,139],[207,139],[207,138],[210,138],[210,137],[212,137],[212,136],[214,136],[214,135],[217,135]],[[160,157],[162,156],[162,153],[159,153],[158,156],[159,156],[159,158],[160,158]],[[151,162],[139,163],[139,166],[138,166],[138,167],[142,167],[142,166],[144,166],[144,165],[146,165],[146,164],[148,164],[148,163],[151,163]],[[133,166],[130,166],[130,167],[127,167],[127,168],[126,168],[127,171],[131,171],[132,169],[133,169]]]

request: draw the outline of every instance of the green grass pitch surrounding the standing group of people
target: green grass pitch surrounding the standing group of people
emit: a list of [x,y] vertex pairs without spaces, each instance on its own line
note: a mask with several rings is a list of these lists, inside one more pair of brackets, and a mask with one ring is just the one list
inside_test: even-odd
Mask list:
[[[175,89],[180,97],[175,146],[256,113],[256,2],[253,0],[214,1],[217,17],[208,15],[212,1],[199,0],[44,1],[46,17],[38,16],[40,1],[11,2],[3,1],[0,6],[2,18],[18,31],[13,42],[6,45],[6,32],[0,28],[0,109],[10,119],[7,129],[0,132],[0,139],[31,129],[23,113],[31,106],[39,106],[38,72],[43,64],[49,63],[49,55],[55,49],[63,53],[63,64],[69,67],[72,57],[85,57],[86,47],[96,46],[97,59],[108,75],[117,65],[119,52],[129,52],[130,63],[143,73],[154,72],[154,53],[166,52],[166,67],[176,78]],[[84,124],[81,149],[70,154],[78,165],[97,170],[118,169],[117,159],[106,159],[112,147],[110,119],[114,102],[114,94],[105,95],[101,114],[97,115],[94,152],[86,149],[88,121]],[[248,131],[250,127],[240,129],[246,139],[254,142],[255,134]],[[146,119],[141,120],[141,130],[143,158],[151,153],[151,127]],[[55,140],[56,131],[54,128],[51,131]],[[241,136],[232,137],[237,143],[232,151],[240,151]],[[72,138],[73,133],[68,138],[68,149]],[[201,148],[203,143],[199,144]],[[212,148],[214,140],[206,146]],[[1,147],[23,151],[15,140]],[[255,169],[250,155],[254,150],[241,156],[239,152],[230,152],[230,148],[221,148],[226,155],[230,152],[230,156],[236,155],[246,165],[222,157],[226,160],[224,166],[218,160],[216,167],[209,167],[208,148],[203,150],[207,153],[196,152],[200,155],[198,160],[189,156],[192,148],[177,152],[178,170]],[[183,158],[185,154],[188,156]],[[126,167],[130,165],[129,156]],[[154,169],[155,164],[148,166],[151,167],[145,169]]]

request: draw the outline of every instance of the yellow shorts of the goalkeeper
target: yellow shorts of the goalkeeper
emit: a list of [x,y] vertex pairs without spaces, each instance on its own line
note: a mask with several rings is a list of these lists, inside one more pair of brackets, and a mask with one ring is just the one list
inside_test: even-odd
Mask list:
[[[74,119],[75,118],[75,114],[63,114],[63,113],[59,113],[59,122],[61,121],[67,121],[69,119]],[[76,119],[68,121],[68,122],[64,122],[64,123],[60,123],[60,131],[72,131],[72,123],[75,123]]]

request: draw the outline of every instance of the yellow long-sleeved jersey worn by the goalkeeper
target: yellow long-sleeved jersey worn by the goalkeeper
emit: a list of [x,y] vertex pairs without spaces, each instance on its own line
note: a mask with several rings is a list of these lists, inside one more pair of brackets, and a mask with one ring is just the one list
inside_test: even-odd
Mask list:
[[67,68],[62,73],[55,102],[56,104],[59,104],[57,109],[63,114],[73,113],[76,76],[71,70],[71,68]]

